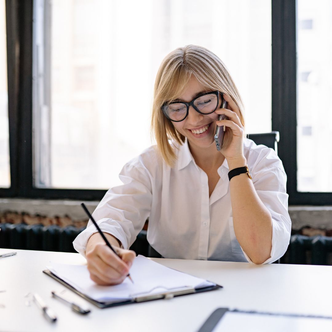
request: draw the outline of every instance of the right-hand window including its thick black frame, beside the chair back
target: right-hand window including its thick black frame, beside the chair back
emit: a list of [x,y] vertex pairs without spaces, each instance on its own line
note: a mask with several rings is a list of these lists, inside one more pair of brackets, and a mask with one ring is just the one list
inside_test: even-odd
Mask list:
[[290,205],[331,205],[330,1],[272,1],[272,128]]

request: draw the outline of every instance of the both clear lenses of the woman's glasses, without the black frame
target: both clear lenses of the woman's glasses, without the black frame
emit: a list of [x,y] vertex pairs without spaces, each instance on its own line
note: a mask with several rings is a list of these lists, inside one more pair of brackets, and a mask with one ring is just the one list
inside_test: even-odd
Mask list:
[[[203,114],[213,112],[218,105],[216,94],[208,94],[201,96],[194,101],[194,106]],[[187,115],[187,105],[183,103],[174,103],[164,106],[164,112],[174,121],[181,121]]]

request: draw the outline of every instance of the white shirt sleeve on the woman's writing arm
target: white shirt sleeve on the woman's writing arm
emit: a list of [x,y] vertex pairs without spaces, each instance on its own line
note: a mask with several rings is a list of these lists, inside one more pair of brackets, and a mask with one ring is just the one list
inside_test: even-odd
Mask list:
[[[108,190],[92,216],[103,232],[115,236],[128,249],[150,214],[151,174],[138,157],[123,167],[119,178],[123,185]],[[74,249],[85,257],[87,242],[96,232],[89,220],[86,229],[73,241]]]

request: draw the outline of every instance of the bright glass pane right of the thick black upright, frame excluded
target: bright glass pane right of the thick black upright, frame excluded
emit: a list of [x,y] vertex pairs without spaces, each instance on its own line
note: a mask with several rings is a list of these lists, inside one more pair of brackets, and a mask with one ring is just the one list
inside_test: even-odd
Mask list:
[[297,7],[297,191],[332,192],[332,2]]

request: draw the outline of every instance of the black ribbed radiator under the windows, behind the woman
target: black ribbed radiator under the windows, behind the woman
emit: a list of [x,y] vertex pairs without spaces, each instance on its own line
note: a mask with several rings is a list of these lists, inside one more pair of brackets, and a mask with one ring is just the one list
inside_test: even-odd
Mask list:
[[[0,223],[0,248],[75,252],[72,242],[85,229],[75,226],[26,225]],[[151,256],[151,247],[142,230],[130,247],[136,254]],[[332,237],[291,235],[290,244],[281,258],[284,264],[332,265]],[[152,255],[152,257],[154,257]]]

